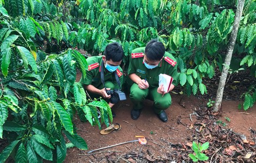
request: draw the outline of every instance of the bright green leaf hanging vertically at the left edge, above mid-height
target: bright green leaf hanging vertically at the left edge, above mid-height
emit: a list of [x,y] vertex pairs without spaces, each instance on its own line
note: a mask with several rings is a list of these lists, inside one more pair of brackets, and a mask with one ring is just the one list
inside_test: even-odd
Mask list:
[[4,51],[2,51],[2,73],[4,77],[7,77],[8,75],[8,67],[10,65],[10,59],[11,59],[11,48],[6,48]]

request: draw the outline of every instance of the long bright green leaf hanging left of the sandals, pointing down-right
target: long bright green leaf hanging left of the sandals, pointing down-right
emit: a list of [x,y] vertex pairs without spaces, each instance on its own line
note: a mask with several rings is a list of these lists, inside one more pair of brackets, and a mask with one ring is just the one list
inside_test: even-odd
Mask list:
[[73,125],[68,112],[66,112],[66,110],[59,103],[53,102],[53,104],[57,110],[57,114],[59,115],[60,122],[62,122],[64,128],[73,135]]

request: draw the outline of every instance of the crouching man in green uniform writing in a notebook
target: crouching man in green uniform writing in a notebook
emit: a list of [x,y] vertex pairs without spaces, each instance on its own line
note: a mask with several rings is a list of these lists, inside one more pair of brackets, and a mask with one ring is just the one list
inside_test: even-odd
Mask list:
[[134,106],[131,111],[133,120],[137,120],[143,108],[143,99],[154,101],[154,112],[161,121],[167,122],[166,112],[172,98],[164,92],[163,85],[159,86],[159,74],[173,77],[169,91],[176,85],[177,65],[174,57],[165,52],[162,42],[151,40],[146,47],[132,51],[128,74],[134,82],[130,89],[130,98]]

